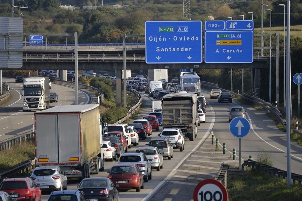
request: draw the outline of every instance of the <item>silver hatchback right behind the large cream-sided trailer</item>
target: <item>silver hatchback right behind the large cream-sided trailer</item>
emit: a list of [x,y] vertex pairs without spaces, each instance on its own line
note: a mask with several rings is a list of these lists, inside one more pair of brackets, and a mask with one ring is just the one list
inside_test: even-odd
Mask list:
[[32,180],[40,184],[43,190],[67,190],[67,177],[58,166],[41,166],[34,169],[31,174]]

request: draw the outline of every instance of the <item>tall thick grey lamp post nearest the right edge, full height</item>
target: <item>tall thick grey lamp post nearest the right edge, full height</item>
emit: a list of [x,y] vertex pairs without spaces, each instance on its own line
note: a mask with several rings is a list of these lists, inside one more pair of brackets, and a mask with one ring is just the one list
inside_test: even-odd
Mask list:
[[287,0],[287,51],[286,51],[286,158],[287,187],[291,188],[291,36],[290,36],[290,0]]

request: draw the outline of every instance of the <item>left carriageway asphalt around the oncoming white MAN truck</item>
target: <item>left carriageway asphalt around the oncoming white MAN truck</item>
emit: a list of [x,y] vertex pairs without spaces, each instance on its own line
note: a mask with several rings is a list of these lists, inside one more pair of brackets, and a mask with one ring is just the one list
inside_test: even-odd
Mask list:
[[[15,83],[12,78],[3,78],[3,82],[7,82],[12,97],[0,107],[0,141],[31,132],[34,124],[34,111],[23,112],[22,109],[22,83]],[[72,87],[52,83],[50,92],[56,92],[59,98],[58,103],[51,102],[50,107],[75,104],[75,90]],[[79,104],[87,104],[88,101],[88,94],[79,91]]]

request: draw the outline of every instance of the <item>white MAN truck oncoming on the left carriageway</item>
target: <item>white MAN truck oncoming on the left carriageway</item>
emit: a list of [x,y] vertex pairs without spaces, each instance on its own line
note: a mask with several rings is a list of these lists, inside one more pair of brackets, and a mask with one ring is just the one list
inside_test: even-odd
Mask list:
[[20,94],[23,96],[23,112],[48,109],[50,103],[49,78],[24,78]]

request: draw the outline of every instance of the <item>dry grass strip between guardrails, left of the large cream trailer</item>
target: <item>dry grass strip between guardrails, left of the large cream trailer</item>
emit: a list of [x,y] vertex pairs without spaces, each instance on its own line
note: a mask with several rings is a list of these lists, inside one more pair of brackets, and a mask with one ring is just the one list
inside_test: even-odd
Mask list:
[[24,142],[11,149],[0,152],[0,172],[5,172],[19,163],[35,158],[33,141]]

